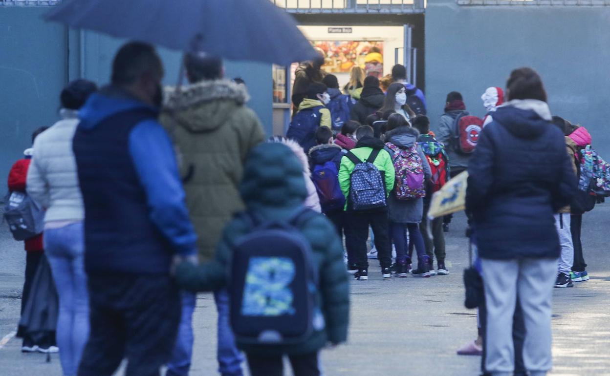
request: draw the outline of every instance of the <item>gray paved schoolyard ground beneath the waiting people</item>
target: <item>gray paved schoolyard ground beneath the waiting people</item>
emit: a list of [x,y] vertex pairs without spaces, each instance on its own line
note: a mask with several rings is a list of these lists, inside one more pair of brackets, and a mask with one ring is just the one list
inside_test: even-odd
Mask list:
[[[610,204],[584,219],[584,249],[592,279],[572,289],[556,289],[554,299],[555,376],[610,375]],[[451,275],[381,280],[376,261],[371,280],[351,283],[350,341],[323,355],[328,375],[476,375],[478,357],[455,355],[476,335],[475,311],[465,310],[461,271],[467,266],[464,217],[448,234]],[[24,254],[0,232],[0,339],[18,321]],[[202,295],[195,313],[195,356],[192,375],[215,372],[215,309]],[[20,341],[0,349],[4,376],[59,376],[59,360],[22,355]]]

